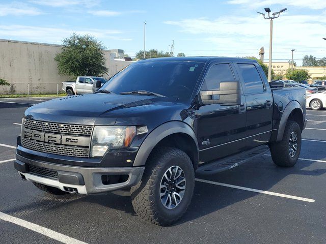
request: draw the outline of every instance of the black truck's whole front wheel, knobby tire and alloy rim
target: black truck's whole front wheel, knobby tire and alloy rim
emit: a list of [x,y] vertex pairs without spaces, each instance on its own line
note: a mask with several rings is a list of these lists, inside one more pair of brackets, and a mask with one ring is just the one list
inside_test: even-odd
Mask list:
[[142,180],[131,188],[133,209],[143,220],[171,225],[184,215],[194,186],[193,163],[184,151],[155,148],[146,162]]

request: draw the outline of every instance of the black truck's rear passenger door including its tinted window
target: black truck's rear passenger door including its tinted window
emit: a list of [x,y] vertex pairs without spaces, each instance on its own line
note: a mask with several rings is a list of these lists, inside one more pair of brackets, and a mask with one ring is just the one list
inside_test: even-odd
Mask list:
[[[246,135],[245,149],[265,144],[272,130],[273,97],[266,86],[264,73],[257,63],[236,64],[246,97]],[[244,149],[244,148],[243,148]]]

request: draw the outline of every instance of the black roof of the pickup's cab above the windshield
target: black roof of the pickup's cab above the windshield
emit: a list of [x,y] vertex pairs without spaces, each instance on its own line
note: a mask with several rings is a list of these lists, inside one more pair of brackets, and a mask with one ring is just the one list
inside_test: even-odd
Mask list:
[[257,62],[255,59],[241,58],[241,57],[219,57],[219,56],[196,56],[196,57],[156,57],[149,59],[142,59],[138,62],[153,62],[153,61],[188,61],[207,63],[211,61],[242,61],[242,62]]

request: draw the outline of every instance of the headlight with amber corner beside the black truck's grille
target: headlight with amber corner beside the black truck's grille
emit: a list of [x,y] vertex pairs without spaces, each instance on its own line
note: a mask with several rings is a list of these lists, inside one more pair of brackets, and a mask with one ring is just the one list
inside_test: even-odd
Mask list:
[[95,126],[91,157],[102,157],[108,149],[127,148],[136,134],[135,126]]

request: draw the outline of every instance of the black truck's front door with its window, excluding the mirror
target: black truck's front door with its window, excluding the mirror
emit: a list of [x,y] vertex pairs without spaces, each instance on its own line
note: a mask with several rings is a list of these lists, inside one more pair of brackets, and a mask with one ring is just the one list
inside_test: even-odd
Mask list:
[[[201,90],[219,90],[221,81],[239,80],[232,63],[214,63],[206,72]],[[208,104],[196,110],[200,161],[238,153],[246,127],[246,100],[239,105]]]

